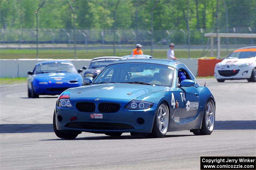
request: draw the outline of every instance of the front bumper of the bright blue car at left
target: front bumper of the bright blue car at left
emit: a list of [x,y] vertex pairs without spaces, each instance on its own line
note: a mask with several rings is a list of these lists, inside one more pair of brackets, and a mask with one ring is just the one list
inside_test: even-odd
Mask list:
[[63,83],[63,84],[37,84],[33,85],[33,90],[39,95],[57,95],[61,94],[68,88],[80,87],[82,83]]

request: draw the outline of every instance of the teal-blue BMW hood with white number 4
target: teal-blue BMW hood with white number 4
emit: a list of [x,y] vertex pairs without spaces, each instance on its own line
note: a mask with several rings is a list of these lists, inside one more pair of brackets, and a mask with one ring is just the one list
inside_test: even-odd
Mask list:
[[129,99],[133,100],[151,92],[167,91],[169,87],[128,84],[128,83],[107,83],[93,84],[73,88],[69,94],[70,98],[112,98],[112,99]]

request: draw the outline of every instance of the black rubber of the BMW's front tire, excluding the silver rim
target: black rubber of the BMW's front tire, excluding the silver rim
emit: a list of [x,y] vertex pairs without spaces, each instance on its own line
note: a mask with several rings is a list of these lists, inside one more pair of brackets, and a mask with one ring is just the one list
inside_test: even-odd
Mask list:
[[[166,104],[166,102],[161,102],[161,104],[164,104],[166,107],[167,107],[167,109],[168,109],[168,111],[169,111],[169,115],[168,115],[168,118],[169,118],[169,121],[168,121],[168,127],[169,127],[169,123],[170,123],[170,110],[169,110],[169,107],[168,107],[168,105]],[[147,134],[147,135],[145,135],[146,137],[150,137],[150,138],[164,138],[165,137],[165,135],[166,135],[166,133],[167,133],[167,131],[166,131],[166,133],[165,134],[162,134],[160,131],[159,131],[159,128],[158,128],[158,109],[159,109],[159,107],[161,106],[161,104],[159,104],[159,106],[158,106],[158,108],[157,108],[157,112],[156,112],[156,114],[155,114],[155,120],[154,120],[154,125],[153,125],[153,129],[152,129],[152,132],[150,133],[150,134]],[[168,129],[168,127],[167,127],[167,129]]]

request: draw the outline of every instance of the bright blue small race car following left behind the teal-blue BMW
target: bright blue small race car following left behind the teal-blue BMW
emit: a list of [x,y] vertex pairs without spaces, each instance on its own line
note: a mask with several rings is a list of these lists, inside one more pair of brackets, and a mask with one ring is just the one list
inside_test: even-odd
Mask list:
[[57,95],[68,88],[79,87],[83,78],[70,61],[45,61],[37,63],[28,74],[28,97]]

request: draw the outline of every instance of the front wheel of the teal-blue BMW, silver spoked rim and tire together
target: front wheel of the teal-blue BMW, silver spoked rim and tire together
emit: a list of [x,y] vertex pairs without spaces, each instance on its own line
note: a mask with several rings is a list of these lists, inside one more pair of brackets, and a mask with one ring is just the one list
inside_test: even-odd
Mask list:
[[169,109],[165,102],[162,102],[158,107],[158,112],[155,116],[155,121],[152,129],[151,137],[164,138],[169,127]]

